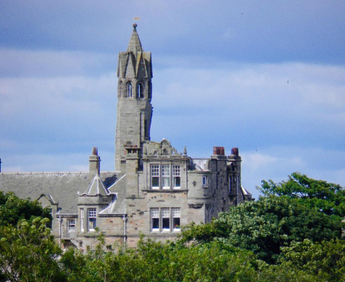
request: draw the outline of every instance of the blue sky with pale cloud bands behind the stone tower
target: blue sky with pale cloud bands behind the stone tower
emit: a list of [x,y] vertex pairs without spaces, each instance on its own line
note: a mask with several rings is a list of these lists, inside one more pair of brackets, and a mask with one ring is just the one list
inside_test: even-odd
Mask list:
[[345,1],[0,3],[2,172],[114,171],[117,56],[152,52],[151,140],[242,156],[242,184],[345,186]]

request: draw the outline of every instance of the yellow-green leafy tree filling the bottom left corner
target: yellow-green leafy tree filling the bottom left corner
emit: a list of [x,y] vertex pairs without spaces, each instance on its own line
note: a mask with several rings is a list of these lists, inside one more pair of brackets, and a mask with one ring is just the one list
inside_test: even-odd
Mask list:
[[48,218],[20,220],[17,227],[0,227],[0,268],[10,281],[63,281],[57,258],[62,251],[55,243]]

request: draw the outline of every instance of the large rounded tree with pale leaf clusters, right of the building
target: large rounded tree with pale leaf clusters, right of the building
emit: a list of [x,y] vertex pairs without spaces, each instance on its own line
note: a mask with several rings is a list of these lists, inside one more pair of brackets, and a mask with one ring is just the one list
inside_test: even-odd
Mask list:
[[250,250],[268,263],[276,263],[281,247],[304,239],[317,242],[340,238],[342,226],[338,217],[306,208],[298,199],[269,195],[256,202],[233,206],[210,224],[183,228],[180,242],[220,241]]

